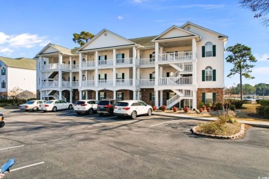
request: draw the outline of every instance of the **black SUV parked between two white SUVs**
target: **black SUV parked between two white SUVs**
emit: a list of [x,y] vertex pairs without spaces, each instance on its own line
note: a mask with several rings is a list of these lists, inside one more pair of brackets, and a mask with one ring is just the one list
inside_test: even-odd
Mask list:
[[100,116],[103,114],[113,114],[114,106],[118,103],[116,99],[103,99],[97,105],[97,113]]

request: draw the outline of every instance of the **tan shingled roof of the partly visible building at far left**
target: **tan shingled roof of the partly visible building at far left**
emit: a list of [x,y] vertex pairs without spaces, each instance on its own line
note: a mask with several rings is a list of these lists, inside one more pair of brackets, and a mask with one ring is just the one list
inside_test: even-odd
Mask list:
[[7,57],[0,56],[0,61],[5,63],[8,67],[20,67],[26,69],[36,70],[37,62],[34,59],[27,59],[27,58],[18,58],[18,59],[11,59]]

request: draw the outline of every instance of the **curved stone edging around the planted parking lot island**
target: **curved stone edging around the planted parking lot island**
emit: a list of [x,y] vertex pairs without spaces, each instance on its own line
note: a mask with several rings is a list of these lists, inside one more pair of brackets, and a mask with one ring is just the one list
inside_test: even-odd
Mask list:
[[203,136],[203,137],[208,137],[208,138],[220,138],[220,139],[236,139],[236,138],[240,138],[241,136],[243,136],[243,134],[245,134],[245,124],[241,123],[241,130],[232,136],[220,136],[220,135],[214,135],[214,134],[203,134],[200,133],[199,131],[196,130],[196,127],[192,127],[192,129],[190,129],[190,131],[192,131],[192,134],[195,134],[197,136]]

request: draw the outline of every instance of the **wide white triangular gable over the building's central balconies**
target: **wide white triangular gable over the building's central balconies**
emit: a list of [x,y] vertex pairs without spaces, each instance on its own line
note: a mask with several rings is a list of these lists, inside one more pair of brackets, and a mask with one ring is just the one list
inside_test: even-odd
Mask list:
[[[108,40],[106,40],[106,38]],[[100,39],[96,42],[97,39]],[[117,39],[117,41],[112,41],[113,39]],[[92,38],[88,43],[84,44],[77,52],[82,52],[86,50],[97,50],[97,49],[107,49],[107,48],[117,48],[121,46],[132,46],[137,45],[136,43],[120,36],[119,34],[115,34],[109,30],[103,29],[99,32],[94,38]]]

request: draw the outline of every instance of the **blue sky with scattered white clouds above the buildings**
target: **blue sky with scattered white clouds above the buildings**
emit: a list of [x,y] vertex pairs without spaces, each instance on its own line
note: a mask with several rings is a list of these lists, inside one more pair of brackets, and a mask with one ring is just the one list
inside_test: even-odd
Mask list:
[[[0,56],[32,59],[48,43],[79,47],[72,34],[81,31],[98,34],[105,28],[132,39],[190,21],[228,36],[226,48],[237,43],[251,48],[255,79],[243,78],[243,84],[269,83],[269,27],[237,0],[0,0],[0,7]],[[225,62],[226,87],[239,83],[239,75],[226,77],[232,67]]]

